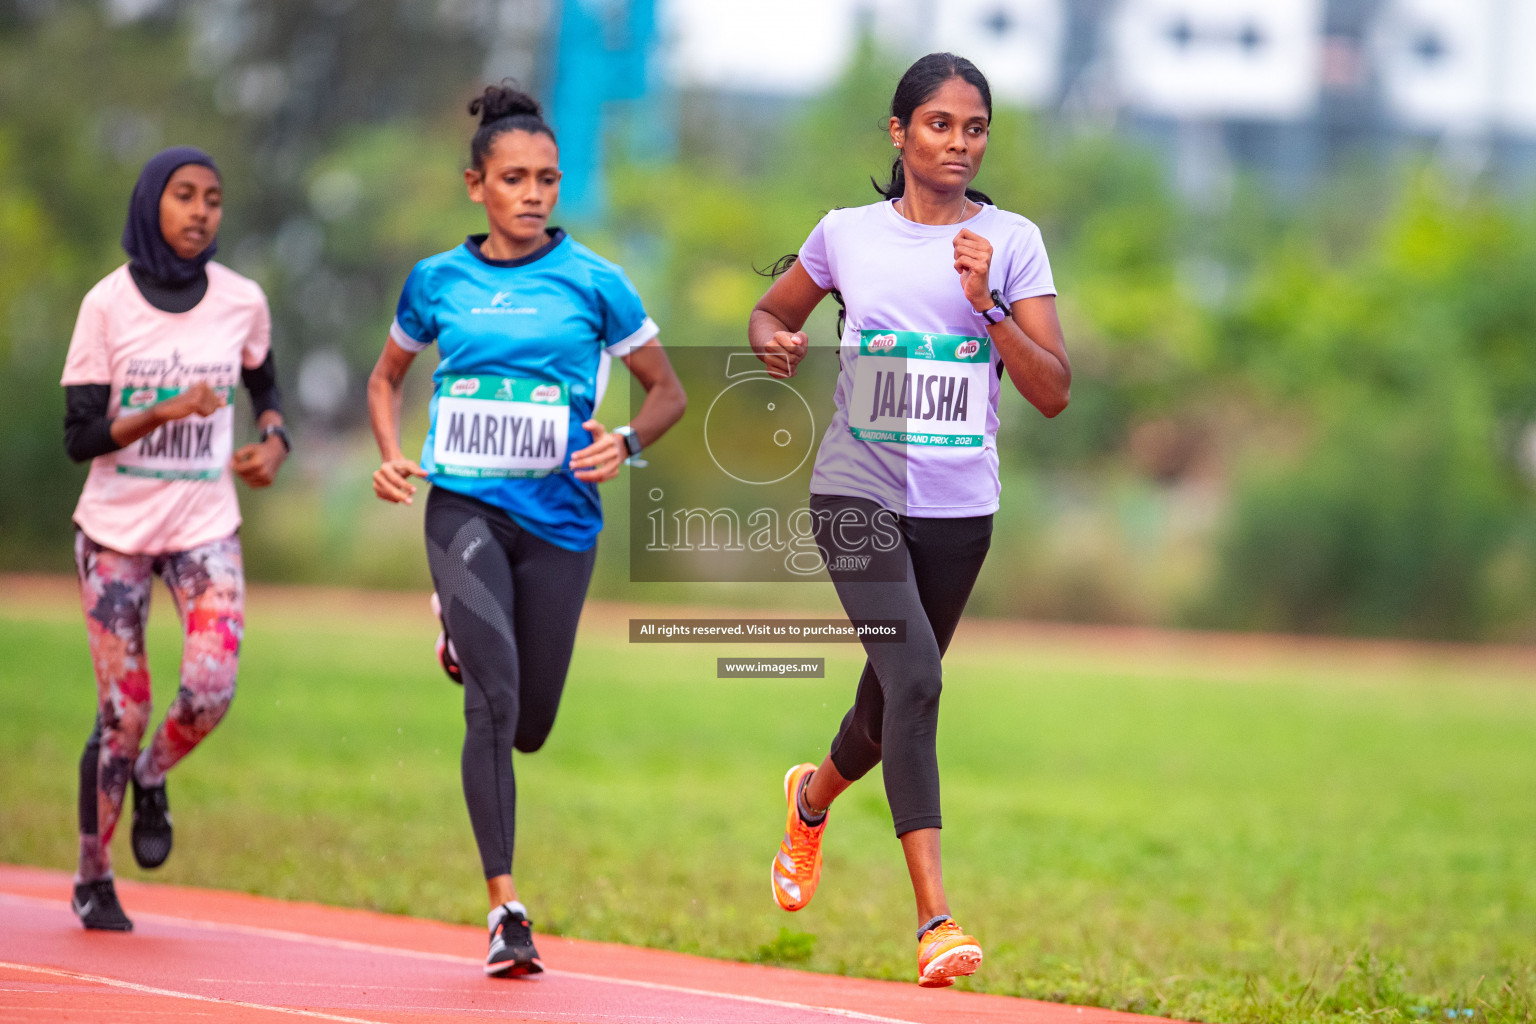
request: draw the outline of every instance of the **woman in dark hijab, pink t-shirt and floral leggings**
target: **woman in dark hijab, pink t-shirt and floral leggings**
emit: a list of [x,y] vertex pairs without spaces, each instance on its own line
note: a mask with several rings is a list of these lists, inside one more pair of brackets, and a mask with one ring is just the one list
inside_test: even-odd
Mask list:
[[[75,507],[75,568],[97,676],[95,728],[80,760],[80,870],[74,910],[88,929],[129,932],[112,884],[112,831],[134,789],[134,858],[170,855],[166,772],[235,695],[244,571],[233,476],[276,477],[289,453],[255,281],[214,263],[223,187],[214,160],[175,147],[144,164],[123,229],[127,263],[80,304],[65,361],[65,448],[91,461]],[[237,382],[260,439],[233,450]],[[184,631],[181,679],[164,722],[149,722],[144,620],[160,576]]]

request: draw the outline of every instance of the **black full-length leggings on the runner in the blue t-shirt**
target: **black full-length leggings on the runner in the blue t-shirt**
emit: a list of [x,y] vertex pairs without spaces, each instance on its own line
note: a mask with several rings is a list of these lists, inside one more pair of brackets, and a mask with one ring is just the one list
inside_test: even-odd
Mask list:
[[487,878],[511,872],[511,751],[531,754],[554,726],[596,553],[441,487],[427,497],[427,562],[464,669],[464,800]]

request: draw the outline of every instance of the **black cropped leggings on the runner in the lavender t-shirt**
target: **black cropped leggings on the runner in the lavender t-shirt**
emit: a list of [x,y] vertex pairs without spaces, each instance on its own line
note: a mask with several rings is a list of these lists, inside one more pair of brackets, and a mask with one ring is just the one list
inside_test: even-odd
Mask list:
[[[897,835],[942,827],[935,746],[940,659],[986,560],[992,517],[915,519],[883,511],[863,497],[831,494],[811,494],[811,511],[817,545],[848,617],[906,622],[902,643],[865,643],[868,660],[854,706],[833,740],[833,765],[848,780],[885,765],[885,797]],[[894,520],[897,528],[885,536],[899,537],[895,548],[877,554],[872,567],[851,568],[856,559],[837,556],[848,551],[849,537],[857,539],[859,531],[834,530],[831,524],[846,516],[869,522],[877,513]],[[879,571],[892,563],[894,573]],[[869,582],[871,576],[877,582]]]

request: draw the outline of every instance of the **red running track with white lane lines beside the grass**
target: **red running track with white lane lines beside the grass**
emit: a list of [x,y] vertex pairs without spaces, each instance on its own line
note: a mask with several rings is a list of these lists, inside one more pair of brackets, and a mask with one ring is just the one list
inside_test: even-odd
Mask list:
[[[1154,1024],[1158,1018],[539,936],[481,973],[484,930],[118,880],[134,933],[86,932],[69,875],[0,864],[0,1024]],[[476,955],[479,953],[479,955]]]

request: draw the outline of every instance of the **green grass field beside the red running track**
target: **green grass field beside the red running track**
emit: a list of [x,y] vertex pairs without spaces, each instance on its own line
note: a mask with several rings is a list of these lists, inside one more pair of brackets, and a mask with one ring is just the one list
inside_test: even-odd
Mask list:
[[[0,860],[71,869],[84,626],[68,588],[5,590]],[[424,596],[253,594],[240,695],[172,774],[154,877],[482,921],[433,634]],[[946,883],[988,955],[962,984],[1200,1021],[1536,1019],[1530,659],[1014,636],[948,662]],[[624,637],[588,614],[554,734],[516,761],[538,927],[911,978],[879,778],[837,804],[816,903],[768,892],[780,777],[825,752],[856,651]],[[828,679],[714,679],[754,651],[825,654]],[[175,657],[161,591],[161,705]]]

